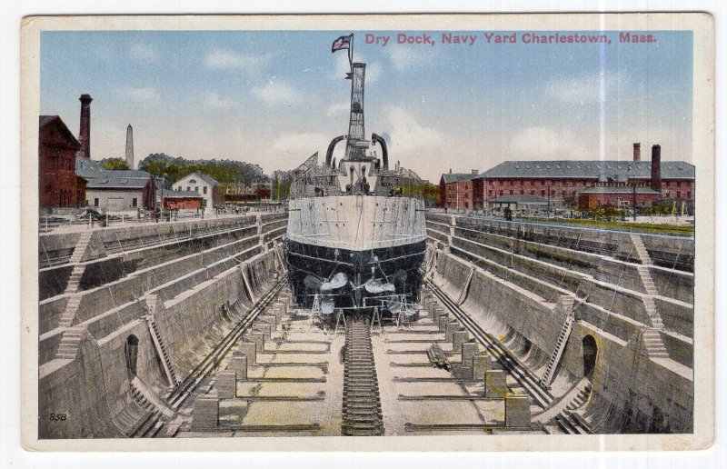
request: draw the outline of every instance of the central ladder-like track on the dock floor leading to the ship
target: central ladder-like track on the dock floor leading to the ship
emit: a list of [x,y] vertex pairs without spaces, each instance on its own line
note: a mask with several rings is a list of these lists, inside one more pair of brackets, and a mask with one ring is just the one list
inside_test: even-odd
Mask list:
[[346,330],[341,433],[345,436],[383,435],[371,328],[361,320],[352,321]]

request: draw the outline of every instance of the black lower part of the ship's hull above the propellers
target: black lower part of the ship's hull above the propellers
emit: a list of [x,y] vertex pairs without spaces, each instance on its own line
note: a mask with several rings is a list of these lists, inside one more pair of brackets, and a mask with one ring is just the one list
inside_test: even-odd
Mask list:
[[406,294],[407,301],[418,302],[424,250],[424,241],[368,251],[334,249],[290,240],[285,242],[291,286],[298,304],[306,307],[313,304],[320,284],[339,272],[346,274],[350,283],[335,291],[336,308],[363,308],[375,304],[375,301],[366,298],[377,294],[355,287],[372,277],[393,284],[395,294]]

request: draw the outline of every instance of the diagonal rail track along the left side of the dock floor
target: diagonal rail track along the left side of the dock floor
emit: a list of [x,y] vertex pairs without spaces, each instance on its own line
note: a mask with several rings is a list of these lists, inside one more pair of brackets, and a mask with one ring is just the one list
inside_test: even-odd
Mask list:
[[[192,372],[188,374],[180,384],[174,387],[174,390],[166,399],[166,404],[174,411],[178,411],[182,404],[194,394],[194,390],[202,383],[206,376],[214,372],[214,368],[223,360],[224,356],[237,343],[244,332],[253,324],[255,318],[262,313],[268,304],[271,304],[281,288],[287,282],[287,277],[283,277],[274,284],[273,288],[267,294],[254,304],[248,314],[236,324],[232,331],[224,336],[222,341],[214,347],[214,350],[204,357],[204,360],[197,364]],[[161,431],[164,427],[164,420],[160,414],[150,415],[142,424],[137,427],[136,432],[131,435],[134,438],[152,437]]]

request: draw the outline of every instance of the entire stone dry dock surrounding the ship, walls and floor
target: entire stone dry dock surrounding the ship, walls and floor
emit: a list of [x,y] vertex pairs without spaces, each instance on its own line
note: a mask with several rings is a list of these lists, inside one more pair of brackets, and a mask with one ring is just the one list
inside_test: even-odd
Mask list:
[[40,235],[39,436],[692,431],[693,240],[426,224],[419,320],[337,328],[285,214]]

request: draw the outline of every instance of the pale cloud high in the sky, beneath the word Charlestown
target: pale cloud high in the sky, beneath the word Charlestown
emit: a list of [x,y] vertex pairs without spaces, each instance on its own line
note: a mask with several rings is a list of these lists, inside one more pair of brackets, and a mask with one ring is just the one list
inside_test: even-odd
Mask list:
[[545,86],[545,94],[570,105],[593,105],[618,99],[632,88],[630,83],[624,73],[596,72],[553,80]]

